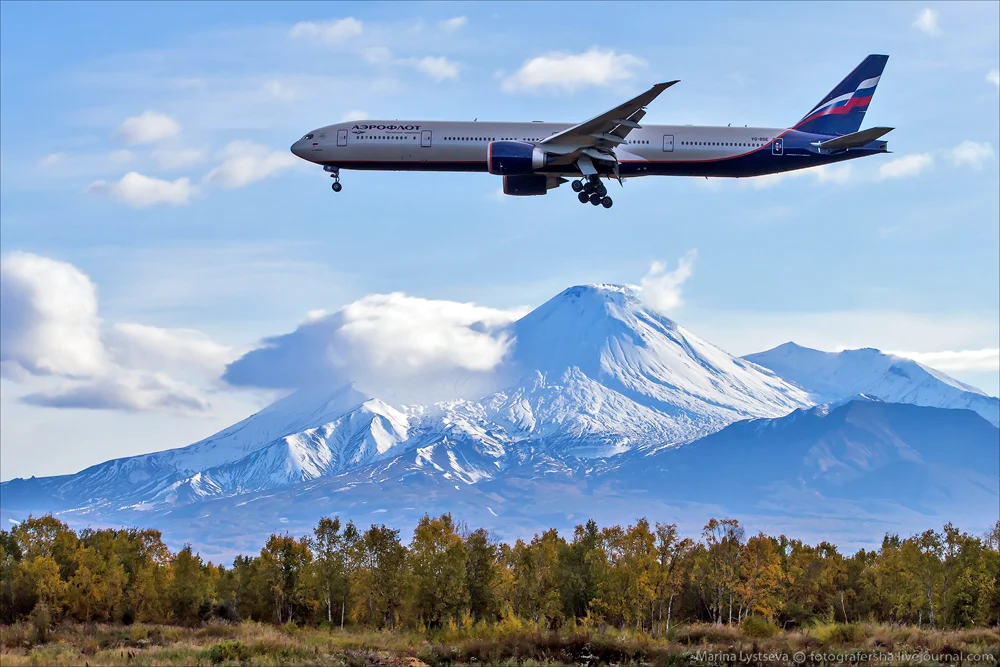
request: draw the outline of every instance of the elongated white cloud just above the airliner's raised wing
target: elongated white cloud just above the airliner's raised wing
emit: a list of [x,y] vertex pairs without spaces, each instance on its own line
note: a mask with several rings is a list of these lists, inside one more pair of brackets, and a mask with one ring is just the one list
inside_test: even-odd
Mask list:
[[645,61],[628,53],[590,49],[584,53],[555,52],[526,61],[503,80],[506,92],[559,90],[572,92],[587,86],[626,81]]

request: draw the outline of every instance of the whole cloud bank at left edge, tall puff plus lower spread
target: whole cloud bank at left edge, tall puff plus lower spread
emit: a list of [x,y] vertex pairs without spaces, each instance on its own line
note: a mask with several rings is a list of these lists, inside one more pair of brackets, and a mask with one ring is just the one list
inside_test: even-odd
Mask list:
[[238,356],[198,331],[108,326],[83,272],[29,253],[0,258],[0,311],[4,377],[57,383],[22,399],[33,405],[204,413],[186,380],[216,378]]

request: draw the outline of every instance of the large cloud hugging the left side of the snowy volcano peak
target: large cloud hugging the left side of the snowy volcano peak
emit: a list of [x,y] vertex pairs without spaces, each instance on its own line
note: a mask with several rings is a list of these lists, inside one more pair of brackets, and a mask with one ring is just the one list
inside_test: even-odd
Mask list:
[[473,395],[491,381],[512,343],[506,327],[522,314],[401,293],[366,296],[265,339],[223,378],[261,388],[354,382],[402,401]]

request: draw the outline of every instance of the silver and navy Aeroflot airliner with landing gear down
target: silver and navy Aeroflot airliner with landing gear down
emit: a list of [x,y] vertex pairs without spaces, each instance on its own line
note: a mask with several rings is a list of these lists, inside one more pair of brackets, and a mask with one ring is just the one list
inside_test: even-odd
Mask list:
[[888,56],[870,55],[790,128],[640,125],[677,81],[658,83],[577,125],[358,120],[307,133],[291,151],[322,165],[340,192],[342,169],[485,172],[503,193],[544,195],[568,180],[582,204],[611,208],[604,181],[645,176],[762,176],[888,153],[891,127],[860,130]]

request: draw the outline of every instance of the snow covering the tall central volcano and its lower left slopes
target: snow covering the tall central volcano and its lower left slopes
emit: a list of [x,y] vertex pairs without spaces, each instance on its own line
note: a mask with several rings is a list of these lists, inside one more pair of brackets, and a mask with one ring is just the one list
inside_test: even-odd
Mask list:
[[[799,388],[648,309],[632,288],[573,287],[512,327],[479,401],[392,407],[351,387],[301,390],[188,447],[5,485],[63,507],[180,505],[335,476],[406,454],[474,484],[537,456],[654,450],[809,404]],[[402,459],[400,459],[402,460]]]

